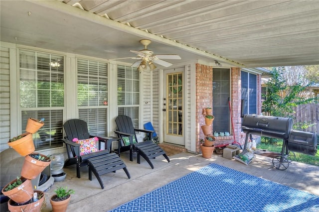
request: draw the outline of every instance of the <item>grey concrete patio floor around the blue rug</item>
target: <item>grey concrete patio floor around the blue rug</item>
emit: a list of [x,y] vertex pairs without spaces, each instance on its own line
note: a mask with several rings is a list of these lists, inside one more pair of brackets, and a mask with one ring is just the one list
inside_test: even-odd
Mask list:
[[101,176],[105,187],[103,190],[95,176],[92,181],[89,181],[86,167],[82,168],[80,179],[76,177],[75,166],[64,168],[64,172],[67,173],[66,179],[62,182],[55,182],[46,192],[46,207],[43,207],[41,212],[52,211],[49,198],[58,186],[67,186],[68,189],[75,190],[67,212],[106,212],[210,163],[319,196],[319,167],[298,162],[292,162],[288,169],[281,171],[273,167],[271,158],[261,155],[256,155],[256,158],[246,166],[238,161],[215,155],[215,153],[211,159],[205,159],[201,154],[182,152],[170,156],[170,163],[167,163],[164,157],[153,159],[155,168],[151,169],[144,159],[141,159],[141,164],[137,164],[136,155],[134,162],[129,161],[128,152],[121,153],[121,158],[128,167],[131,179],[127,178],[123,170],[105,174]]

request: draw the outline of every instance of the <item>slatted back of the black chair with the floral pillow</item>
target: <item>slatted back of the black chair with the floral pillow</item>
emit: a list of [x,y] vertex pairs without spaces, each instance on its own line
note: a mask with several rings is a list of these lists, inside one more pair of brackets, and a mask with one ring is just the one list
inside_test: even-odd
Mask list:
[[90,138],[88,125],[84,120],[70,119],[64,123],[63,127],[66,134],[66,138],[70,141],[72,141],[73,138],[78,138],[78,139]]

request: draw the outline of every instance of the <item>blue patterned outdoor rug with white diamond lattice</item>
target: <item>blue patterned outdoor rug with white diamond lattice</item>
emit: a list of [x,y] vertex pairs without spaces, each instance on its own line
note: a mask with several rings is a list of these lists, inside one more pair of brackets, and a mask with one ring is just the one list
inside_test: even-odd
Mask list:
[[319,196],[210,164],[111,212],[319,212]]

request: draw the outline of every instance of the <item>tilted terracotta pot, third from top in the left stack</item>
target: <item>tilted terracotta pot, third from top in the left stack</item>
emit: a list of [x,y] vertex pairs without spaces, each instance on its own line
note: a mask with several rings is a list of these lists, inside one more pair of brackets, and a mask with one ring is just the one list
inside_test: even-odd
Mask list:
[[[37,160],[37,159],[31,157],[31,155],[40,155],[42,157],[45,157],[45,159],[47,161]],[[41,174],[41,172],[45,169],[45,167],[50,165],[50,163],[51,163],[50,158],[46,157],[45,155],[42,155],[39,153],[29,154],[29,155],[25,156],[25,158],[24,158],[24,163],[23,163],[23,166],[21,169],[21,176],[26,178],[26,179],[33,180],[39,174]]]

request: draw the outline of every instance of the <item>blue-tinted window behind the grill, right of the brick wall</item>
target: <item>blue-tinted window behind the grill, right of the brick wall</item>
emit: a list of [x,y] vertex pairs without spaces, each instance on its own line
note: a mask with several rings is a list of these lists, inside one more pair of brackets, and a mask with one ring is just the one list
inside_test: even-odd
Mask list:
[[257,75],[241,71],[241,99],[243,114],[257,113]]

